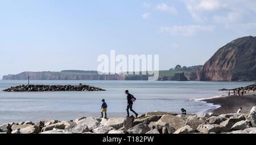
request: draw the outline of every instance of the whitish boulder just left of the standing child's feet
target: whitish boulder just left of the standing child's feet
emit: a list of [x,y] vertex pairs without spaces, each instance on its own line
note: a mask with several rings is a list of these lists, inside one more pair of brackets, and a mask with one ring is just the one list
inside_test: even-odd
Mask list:
[[101,126],[100,120],[92,117],[81,119],[77,122],[79,126],[87,126],[89,130],[96,129],[97,127]]

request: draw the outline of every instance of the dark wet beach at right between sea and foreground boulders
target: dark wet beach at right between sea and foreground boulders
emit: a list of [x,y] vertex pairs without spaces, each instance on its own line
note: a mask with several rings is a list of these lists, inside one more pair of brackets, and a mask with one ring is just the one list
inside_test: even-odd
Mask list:
[[237,113],[240,107],[242,107],[241,113],[249,113],[251,108],[256,106],[256,94],[211,98],[203,101],[221,106],[212,110],[214,115]]

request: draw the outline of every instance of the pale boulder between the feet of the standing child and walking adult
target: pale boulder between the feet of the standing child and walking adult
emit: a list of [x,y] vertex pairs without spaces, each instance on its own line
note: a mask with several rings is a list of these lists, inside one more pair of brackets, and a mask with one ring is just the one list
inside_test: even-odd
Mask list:
[[104,126],[112,126],[116,130],[124,127],[125,131],[129,130],[133,127],[133,119],[131,118],[110,118],[110,119],[102,119],[101,124]]

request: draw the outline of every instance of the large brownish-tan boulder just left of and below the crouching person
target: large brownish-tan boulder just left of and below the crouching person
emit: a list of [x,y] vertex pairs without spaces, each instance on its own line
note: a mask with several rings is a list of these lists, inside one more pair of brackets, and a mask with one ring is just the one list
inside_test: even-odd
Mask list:
[[174,129],[177,130],[185,126],[185,121],[174,115],[163,115],[159,121],[155,123],[156,126],[166,126],[166,124],[169,124],[170,127],[174,127]]

